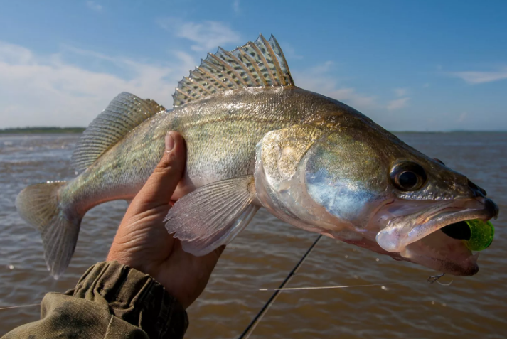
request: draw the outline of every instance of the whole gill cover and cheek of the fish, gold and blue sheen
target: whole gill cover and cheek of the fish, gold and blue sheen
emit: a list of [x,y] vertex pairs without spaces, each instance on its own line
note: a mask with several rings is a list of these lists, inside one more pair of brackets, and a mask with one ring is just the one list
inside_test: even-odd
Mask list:
[[373,147],[339,134],[311,125],[267,133],[257,144],[255,168],[262,205],[297,227],[327,235],[365,227],[388,179]]

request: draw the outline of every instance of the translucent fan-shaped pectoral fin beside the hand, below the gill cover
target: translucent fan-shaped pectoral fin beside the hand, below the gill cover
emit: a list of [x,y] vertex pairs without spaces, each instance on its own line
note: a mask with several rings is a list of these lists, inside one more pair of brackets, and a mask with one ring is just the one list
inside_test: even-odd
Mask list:
[[253,176],[217,181],[183,196],[164,222],[183,249],[196,256],[231,242],[259,209]]

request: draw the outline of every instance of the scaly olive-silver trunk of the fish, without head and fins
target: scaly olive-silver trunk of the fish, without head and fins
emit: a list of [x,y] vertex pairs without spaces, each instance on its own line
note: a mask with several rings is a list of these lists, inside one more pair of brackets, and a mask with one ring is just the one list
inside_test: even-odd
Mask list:
[[[321,107],[320,112],[309,109],[314,105]],[[68,196],[65,200],[78,207],[80,215],[106,201],[134,198],[160,161],[167,131],[178,131],[186,140],[187,166],[176,200],[208,183],[253,174],[255,145],[267,132],[294,124],[321,124],[334,114],[343,122],[368,119],[341,102],[299,87],[231,90],[162,109],[114,144],[60,194]]]

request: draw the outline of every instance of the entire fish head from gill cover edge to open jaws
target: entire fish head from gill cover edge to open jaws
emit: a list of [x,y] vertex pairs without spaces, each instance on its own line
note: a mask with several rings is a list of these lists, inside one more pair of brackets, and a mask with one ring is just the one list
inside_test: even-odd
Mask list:
[[464,220],[498,215],[466,176],[368,124],[270,132],[255,181],[262,205],[292,225],[457,276],[479,270],[467,234],[481,230]]

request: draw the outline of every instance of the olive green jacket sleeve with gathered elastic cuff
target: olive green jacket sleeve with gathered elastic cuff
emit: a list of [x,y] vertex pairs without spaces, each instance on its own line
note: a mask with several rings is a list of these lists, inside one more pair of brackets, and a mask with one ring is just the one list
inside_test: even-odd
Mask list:
[[90,267],[75,289],[48,293],[41,320],[4,338],[183,338],[183,306],[151,276],[118,262]]

